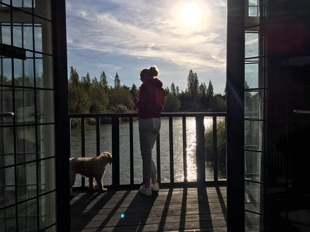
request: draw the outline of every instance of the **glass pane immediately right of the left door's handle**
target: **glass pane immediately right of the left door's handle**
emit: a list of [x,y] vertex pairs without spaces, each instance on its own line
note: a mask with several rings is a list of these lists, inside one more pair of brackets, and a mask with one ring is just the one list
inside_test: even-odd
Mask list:
[[16,124],[34,123],[34,90],[15,89]]

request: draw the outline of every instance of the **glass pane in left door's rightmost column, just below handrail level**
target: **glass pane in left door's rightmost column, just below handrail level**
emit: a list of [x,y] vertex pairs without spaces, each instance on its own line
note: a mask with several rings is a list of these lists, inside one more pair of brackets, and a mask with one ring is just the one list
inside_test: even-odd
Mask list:
[[38,126],[38,153],[39,159],[55,156],[54,125]]

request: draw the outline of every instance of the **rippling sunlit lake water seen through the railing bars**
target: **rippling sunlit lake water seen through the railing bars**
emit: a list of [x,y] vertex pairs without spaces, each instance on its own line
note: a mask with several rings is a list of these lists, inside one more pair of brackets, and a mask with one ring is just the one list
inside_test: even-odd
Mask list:
[[[224,120],[224,118],[217,118]],[[212,117],[205,117],[206,130],[212,129]],[[174,181],[183,182],[183,135],[182,118],[173,118],[173,154],[174,154]],[[139,143],[139,122],[133,122],[134,142],[134,183],[142,182],[142,158]],[[130,142],[129,122],[120,122],[120,184],[130,184]],[[188,181],[197,180],[196,166],[196,121],[194,117],[186,118],[187,142],[187,172]],[[112,152],[112,125],[100,125],[100,152]],[[152,150],[153,160],[156,161],[156,143]],[[96,157],[96,127],[85,128],[85,156]],[[112,154],[113,156],[113,154]],[[71,129],[71,157],[81,157],[81,128]],[[170,182],[169,158],[169,118],[162,118],[160,130],[160,157],[161,181]],[[113,165],[113,164],[112,164]],[[156,165],[157,166],[157,165]],[[218,169],[218,178],[226,179],[226,170]],[[206,162],[206,180],[213,180],[213,165]],[[85,184],[88,185],[86,179]],[[103,179],[104,185],[112,184],[112,167],[108,166]],[[81,175],[77,175],[75,185],[81,185]]]

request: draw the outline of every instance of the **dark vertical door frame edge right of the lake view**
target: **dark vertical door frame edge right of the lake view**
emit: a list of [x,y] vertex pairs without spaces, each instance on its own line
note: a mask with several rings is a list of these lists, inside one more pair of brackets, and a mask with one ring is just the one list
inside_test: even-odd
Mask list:
[[227,0],[227,231],[245,231],[244,12],[245,0]]

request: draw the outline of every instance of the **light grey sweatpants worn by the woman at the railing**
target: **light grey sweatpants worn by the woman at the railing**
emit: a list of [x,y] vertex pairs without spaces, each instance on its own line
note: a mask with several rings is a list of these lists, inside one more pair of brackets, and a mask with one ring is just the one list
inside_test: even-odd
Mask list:
[[156,175],[156,167],[152,157],[152,149],[160,130],[160,118],[139,119],[140,150],[143,164],[143,177]]

